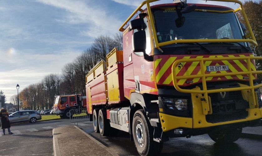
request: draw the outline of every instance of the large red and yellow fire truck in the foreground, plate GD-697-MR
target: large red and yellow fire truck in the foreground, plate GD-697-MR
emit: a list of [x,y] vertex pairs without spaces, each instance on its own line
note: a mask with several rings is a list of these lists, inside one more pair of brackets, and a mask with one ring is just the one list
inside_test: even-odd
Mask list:
[[255,67],[262,57],[250,48],[257,42],[242,3],[214,0],[240,4],[234,10],[155,1],[142,2],[119,28],[123,51],[113,49],[86,75],[95,132],[130,133],[140,155],[157,155],[170,137],[236,141],[262,115]]

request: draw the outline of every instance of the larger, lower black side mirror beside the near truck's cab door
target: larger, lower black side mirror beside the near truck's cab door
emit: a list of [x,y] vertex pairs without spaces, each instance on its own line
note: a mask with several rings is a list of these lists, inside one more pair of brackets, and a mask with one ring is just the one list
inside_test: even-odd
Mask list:
[[132,35],[132,50],[133,52],[144,52],[146,50],[146,32],[144,30],[140,30],[138,32],[134,32]]

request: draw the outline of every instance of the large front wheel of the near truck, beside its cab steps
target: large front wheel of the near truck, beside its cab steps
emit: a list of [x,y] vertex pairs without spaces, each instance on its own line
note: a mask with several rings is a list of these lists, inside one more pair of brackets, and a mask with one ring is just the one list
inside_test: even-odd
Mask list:
[[153,127],[150,125],[144,110],[137,110],[132,124],[133,139],[140,155],[159,155],[163,143],[153,141]]

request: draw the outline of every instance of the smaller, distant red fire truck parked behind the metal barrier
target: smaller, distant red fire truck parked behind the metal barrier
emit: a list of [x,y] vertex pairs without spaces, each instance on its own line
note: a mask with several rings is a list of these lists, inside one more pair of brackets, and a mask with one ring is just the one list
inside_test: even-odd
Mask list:
[[72,116],[70,110],[76,108],[86,108],[86,96],[79,94],[55,96],[51,112],[55,115],[60,115],[61,118],[69,119]]

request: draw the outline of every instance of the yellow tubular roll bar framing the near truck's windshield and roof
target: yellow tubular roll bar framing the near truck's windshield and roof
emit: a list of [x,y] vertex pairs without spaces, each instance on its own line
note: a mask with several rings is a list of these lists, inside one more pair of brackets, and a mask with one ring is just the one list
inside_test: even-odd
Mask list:
[[[257,46],[257,42],[254,36],[254,33],[250,27],[249,21],[247,19],[247,16],[245,14],[244,8],[243,8],[243,4],[241,1],[239,0],[208,0],[208,1],[218,1],[218,2],[234,2],[234,3],[238,3],[240,5],[239,8],[237,8],[236,10],[232,10],[232,11],[228,11],[228,12],[237,12],[241,10],[241,13],[245,19],[247,28],[249,30],[250,33],[250,37],[251,39],[183,39],[183,40],[172,40],[172,41],[167,41],[167,42],[162,42],[162,43],[158,43],[158,39],[157,39],[157,34],[155,31],[155,25],[154,25],[154,20],[153,20],[153,15],[151,12],[151,8],[150,8],[150,4],[151,2],[156,2],[156,1],[160,1],[160,0],[146,0],[144,2],[142,2],[136,9],[135,11],[127,18],[127,20],[121,25],[121,27],[119,28],[119,31],[123,32],[124,26],[132,19],[132,17],[134,17],[134,15],[140,11],[142,12],[142,7],[144,5],[146,5],[147,10],[148,10],[148,17],[149,17],[149,21],[150,21],[150,25],[152,28],[152,32],[153,32],[153,39],[154,39],[154,43],[155,43],[155,47],[160,49],[160,46],[166,46],[166,45],[170,45],[170,44],[175,44],[175,43],[194,43],[194,42],[250,42],[252,44],[254,44],[254,46]],[[206,0],[204,0],[206,1]],[[223,12],[226,13],[226,12]]]

